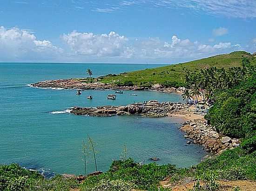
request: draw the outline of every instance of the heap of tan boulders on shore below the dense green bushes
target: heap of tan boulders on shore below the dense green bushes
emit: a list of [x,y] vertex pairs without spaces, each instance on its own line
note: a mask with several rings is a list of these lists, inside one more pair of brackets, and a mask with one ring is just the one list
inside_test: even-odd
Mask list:
[[213,154],[218,155],[224,150],[233,149],[240,144],[237,139],[217,133],[204,119],[188,121],[180,129],[185,132],[186,139],[192,140],[194,144],[202,145],[206,151]]

